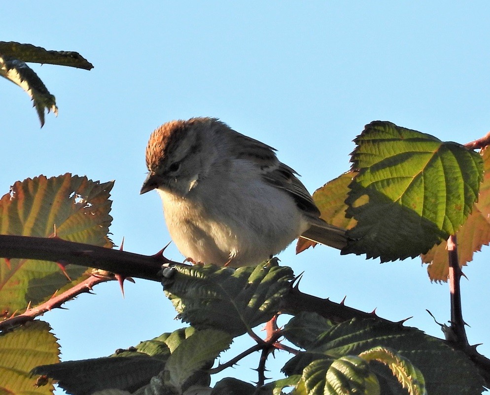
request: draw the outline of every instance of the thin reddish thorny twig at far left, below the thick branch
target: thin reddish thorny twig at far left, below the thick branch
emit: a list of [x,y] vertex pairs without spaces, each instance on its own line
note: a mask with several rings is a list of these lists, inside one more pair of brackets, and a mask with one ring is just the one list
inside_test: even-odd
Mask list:
[[60,293],[57,296],[51,297],[46,302],[36,306],[34,308],[29,308],[22,314],[18,316],[14,316],[12,318],[7,318],[0,322],[0,331],[9,330],[17,325],[21,325],[28,321],[32,321],[35,317],[38,317],[47,311],[53,310],[55,308],[61,307],[61,305],[70,299],[78,296],[81,293],[89,292],[92,288],[100,283],[105,283],[106,281],[114,280],[109,277],[101,277],[101,276],[90,276],[88,279],[82,281],[74,287],[66,290],[65,292]]

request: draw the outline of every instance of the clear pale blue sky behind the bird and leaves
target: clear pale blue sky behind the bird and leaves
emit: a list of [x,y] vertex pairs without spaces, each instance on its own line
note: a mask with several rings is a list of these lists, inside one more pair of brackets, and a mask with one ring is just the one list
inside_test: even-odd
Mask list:
[[[151,254],[170,240],[158,195],[139,194],[149,134],[169,120],[219,117],[277,148],[311,192],[349,169],[352,140],[373,120],[459,143],[490,129],[485,1],[15,1],[2,13],[1,40],[78,51],[95,68],[33,65],[59,107],[42,130],[27,95],[0,81],[0,192],[39,174],[116,180],[110,230],[127,251]],[[476,254],[462,281],[468,337],[486,355],[489,257]],[[304,292],[347,295],[351,307],[413,317],[442,336],[425,309],[446,322],[449,289],[430,283],[420,259],[380,264],[325,247],[280,258],[305,272]],[[125,299],[115,283],[95,291],[44,316],[64,360],[180,326],[159,284],[129,284]],[[228,374],[256,380],[256,360]]]

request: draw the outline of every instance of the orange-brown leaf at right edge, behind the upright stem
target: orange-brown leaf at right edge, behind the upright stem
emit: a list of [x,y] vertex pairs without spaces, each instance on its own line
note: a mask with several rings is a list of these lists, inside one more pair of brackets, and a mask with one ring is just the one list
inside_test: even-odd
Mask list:
[[[490,149],[480,151],[484,163],[483,182],[480,186],[478,202],[468,219],[456,232],[459,265],[466,265],[473,259],[473,252],[480,251],[490,242]],[[423,263],[429,263],[427,272],[432,281],[447,281],[449,259],[447,243],[432,247],[421,256]]]

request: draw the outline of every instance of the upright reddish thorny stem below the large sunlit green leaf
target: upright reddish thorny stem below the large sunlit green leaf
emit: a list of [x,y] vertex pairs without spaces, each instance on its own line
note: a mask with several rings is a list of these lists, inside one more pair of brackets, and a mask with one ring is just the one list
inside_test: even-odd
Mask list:
[[461,309],[461,289],[459,280],[461,279],[461,268],[459,267],[459,259],[457,256],[456,236],[452,235],[448,239],[449,253],[449,289],[451,292],[451,332],[455,339],[447,339],[454,341],[458,347],[468,346],[468,338],[464,329],[463,314]]

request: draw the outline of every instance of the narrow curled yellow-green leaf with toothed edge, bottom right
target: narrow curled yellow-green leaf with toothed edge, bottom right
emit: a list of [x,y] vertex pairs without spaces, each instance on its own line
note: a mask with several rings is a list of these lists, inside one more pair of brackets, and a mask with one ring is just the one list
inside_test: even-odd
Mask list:
[[410,395],[427,394],[422,372],[410,360],[396,351],[385,347],[374,347],[359,354],[359,357],[367,361],[377,360],[383,363]]

